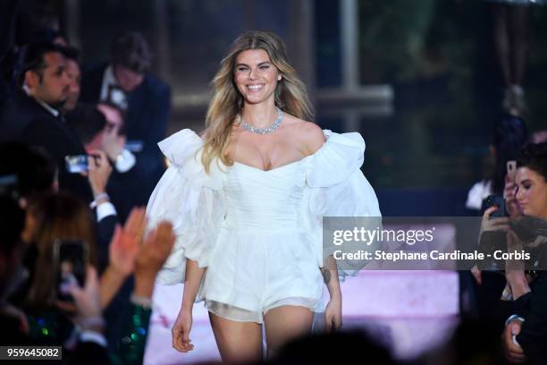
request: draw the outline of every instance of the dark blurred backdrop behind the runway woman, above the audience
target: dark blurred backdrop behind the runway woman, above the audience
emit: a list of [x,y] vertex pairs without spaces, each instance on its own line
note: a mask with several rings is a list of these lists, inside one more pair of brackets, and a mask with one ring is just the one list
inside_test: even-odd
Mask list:
[[[349,1],[349,3],[345,3]],[[37,2],[29,2],[29,4]],[[38,2],[60,15],[84,64],[108,56],[123,29],[139,30],[154,72],[173,89],[170,133],[203,128],[209,81],[241,32],[267,29],[285,39],[316,106],[316,123],[358,130],[364,172],[384,214],[458,215],[467,190],[488,174],[492,124],[502,86],[492,46],[490,4],[481,0],[58,0]],[[342,5],[353,4],[347,38]],[[545,128],[547,6],[531,7],[524,115]],[[344,89],[343,42],[355,47],[358,98]],[[388,90],[389,92],[384,92]]]

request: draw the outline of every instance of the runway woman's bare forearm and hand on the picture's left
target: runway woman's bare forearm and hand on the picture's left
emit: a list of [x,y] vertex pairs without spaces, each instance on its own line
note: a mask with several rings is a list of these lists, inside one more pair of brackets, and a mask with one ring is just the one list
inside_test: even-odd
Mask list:
[[189,352],[194,348],[189,339],[189,331],[192,327],[192,308],[205,270],[205,267],[198,267],[197,261],[186,259],[186,279],[182,293],[181,311],[171,330],[173,347],[180,352]]

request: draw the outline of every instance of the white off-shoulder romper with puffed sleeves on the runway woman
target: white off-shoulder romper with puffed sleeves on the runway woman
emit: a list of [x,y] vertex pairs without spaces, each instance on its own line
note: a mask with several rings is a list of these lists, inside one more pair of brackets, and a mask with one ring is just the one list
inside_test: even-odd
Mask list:
[[324,311],[323,216],[381,216],[360,171],[365,141],[324,134],[316,153],[269,171],[213,161],[206,174],[203,140],[188,129],[158,143],[171,166],[147,215],[150,226],[173,222],[177,239],[157,281],[184,282],[192,259],[206,267],[197,301],[223,318],[262,323],[282,305]]

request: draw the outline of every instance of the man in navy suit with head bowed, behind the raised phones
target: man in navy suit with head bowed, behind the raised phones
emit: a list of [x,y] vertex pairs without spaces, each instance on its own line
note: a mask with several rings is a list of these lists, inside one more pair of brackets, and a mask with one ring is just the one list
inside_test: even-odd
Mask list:
[[111,61],[85,72],[81,100],[105,101],[125,110],[128,141],[142,144],[135,168],[143,176],[142,189],[149,193],[164,173],[164,161],[157,142],[165,137],[171,113],[171,91],[148,70],[151,55],[145,39],[136,32],[115,38]]

